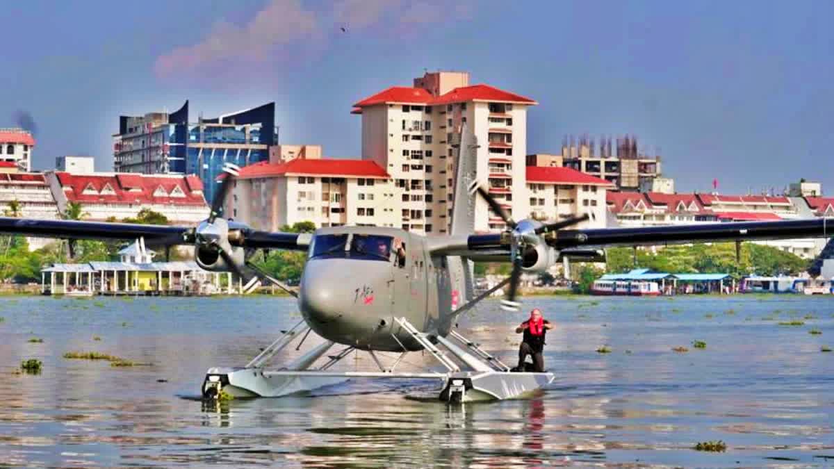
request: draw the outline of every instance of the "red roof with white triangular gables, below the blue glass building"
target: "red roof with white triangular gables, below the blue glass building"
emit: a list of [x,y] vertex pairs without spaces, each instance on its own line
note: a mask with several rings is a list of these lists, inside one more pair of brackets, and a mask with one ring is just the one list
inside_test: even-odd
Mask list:
[[[143,174],[69,174],[56,173],[63,192],[71,202],[88,204],[183,204],[205,205],[203,193],[188,188],[186,176],[149,176]],[[128,176],[123,178],[121,176]],[[138,181],[138,185],[136,183]],[[127,186],[120,184],[128,184]],[[110,194],[100,194],[102,189],[109,186],[113,189]],[[154,195],[162,188],[166,195]],[[84,194],[84,190],[92,188],[98,194]],[[139,189],[128,190],[128,189]],[[175,190],[182,196],[171,196]],[[108,191],[109,192],[109,191]]]

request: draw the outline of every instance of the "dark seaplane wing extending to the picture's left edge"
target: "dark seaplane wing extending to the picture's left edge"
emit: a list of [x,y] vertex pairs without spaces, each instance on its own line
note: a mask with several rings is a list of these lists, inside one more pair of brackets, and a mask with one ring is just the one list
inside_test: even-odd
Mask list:
[[[281,233],[251,229],[246,225],[229,223],[229,232],[239,230],[233,245],[246,248],[307,250],[308,234]],[[189,245],[194,242],[194,229],[158,224],[105,223],[58,219],[18,219],[0,217],[0,233],[43,238],[74,240],[135,240],[144,238],[148,244]],[[230,238],[231,235],[230,235]]]

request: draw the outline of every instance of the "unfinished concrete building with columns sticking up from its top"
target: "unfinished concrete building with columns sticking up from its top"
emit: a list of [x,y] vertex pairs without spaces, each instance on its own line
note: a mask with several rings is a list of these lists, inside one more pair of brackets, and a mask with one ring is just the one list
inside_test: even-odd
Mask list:
[[[616,146],[615,146],[616,144]],[[616,150],[616,151],[615,151]],[[651,155],[651,153],[655,153]],[[600,137],[565,136],[562,141],[562,165],[605,179],[619,190],[638,190],[641,184],[651,183],[661,176],[661,157],[658,152],[641,149],[634,135],[612,139]],[[543,159],[530,155],[528,165],[539,165]],[[547,159],[551,164],[554,159]]]

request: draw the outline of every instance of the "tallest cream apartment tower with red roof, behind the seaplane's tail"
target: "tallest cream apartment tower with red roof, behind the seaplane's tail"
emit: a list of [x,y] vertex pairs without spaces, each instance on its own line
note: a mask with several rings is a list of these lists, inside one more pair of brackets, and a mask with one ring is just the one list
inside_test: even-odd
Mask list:
[[[486,84],[470,86],[469,78],[463,72],[425,73],[412,87],[391,87],[354,104],[352,112],[362,116],[362,158],[393,179],[403,229],[448,232],[455,144],[463,124],[478,144],[478,179],[515,219],[530,214],[527,108],[536,102]],[[478,200],[474,229],[505,229],[505,224]]]

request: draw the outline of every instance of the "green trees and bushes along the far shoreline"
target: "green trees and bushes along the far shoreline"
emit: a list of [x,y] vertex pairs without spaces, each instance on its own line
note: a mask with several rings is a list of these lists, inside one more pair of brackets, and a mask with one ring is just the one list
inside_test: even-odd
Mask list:
[[[19,216],[12,213],[10,206],[7,216]],[[64,219],[84,219],[80,205],[68,207]],[[122,221],[135,224],[168,224],[163,214],[150,209],[143,209],[132,219],[108,219],[111,222]],[[315,225],[304,221],[281,227],[289,233],[312,233]],[[127,245],[113,241],[78,240],[75,242],[75,257],[68,259],[67,242],[58,240],[39,250],[29,250],[25,237],[20,235],[0,236],[0,296],[31,295],[40,292],[41,269],[53,263],[117,260],[118,250]],[[550,273],[539,275],[540,283],[545,287],[522,289],[521,295],[577,295],[586,294],[590,285],[605,272],[625,272],[636,267],[671,273],[726,273],[735,280],[743,275],[755,272],[757,275],[796,275],[807,269],[810,260],[803,260],[796,255],[786,253],[771,246],[742,243],[739,258],[736,259],[734,243],[713,243],[711,245],[671,245],[658,250],[631,248],[610,248],[605,250],[605,270],[601,264],[575,263],[571,265],[570,280],[573,289],[553,286],[555,277]],[[172,260],[189,259],[178,250],[172,251]],[[259,252],[251,259],[254,264],[277,279],[296,284],[304,270],[306,253],[273,250],[269,254]],[[475,263],[475,277],[485,275],[509,276],[511,265],[507,263]],[[269,290],[269,295],[289,296],[280,289],[265,285],[262,290]],[[267,295],[263,291],[259,292]]]

